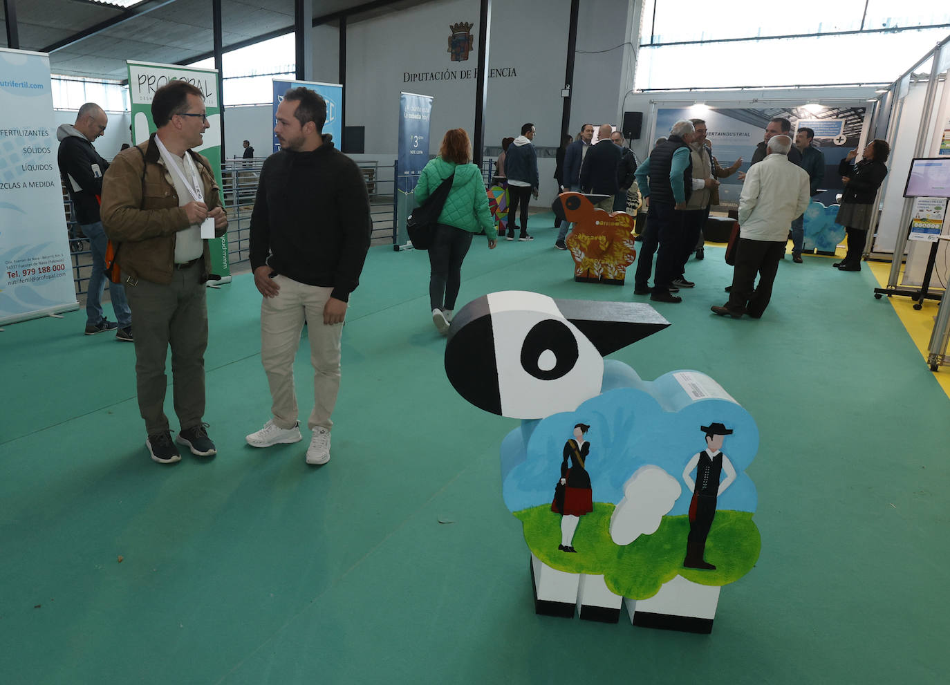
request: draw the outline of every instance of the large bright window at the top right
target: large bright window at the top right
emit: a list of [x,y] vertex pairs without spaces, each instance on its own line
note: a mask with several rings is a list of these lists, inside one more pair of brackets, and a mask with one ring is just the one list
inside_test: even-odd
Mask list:
[[890,83],[950,33],[931,0],[799,0],[776,21],[754,0],[682,7],[645,0],[636,89]]

